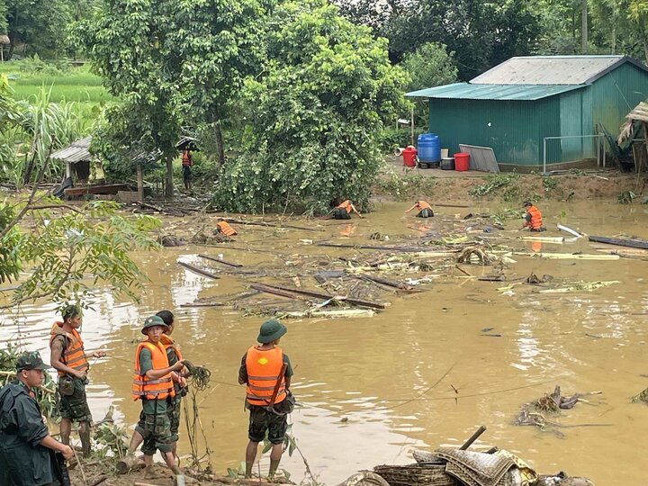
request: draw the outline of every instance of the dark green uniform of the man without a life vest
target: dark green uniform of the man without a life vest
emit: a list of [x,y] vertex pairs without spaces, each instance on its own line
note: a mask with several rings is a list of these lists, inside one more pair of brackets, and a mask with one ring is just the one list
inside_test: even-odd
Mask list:
[[0,485],[58,484],[54,454],[40,446],[47,436],[30,390],[19,381],[0,389]]

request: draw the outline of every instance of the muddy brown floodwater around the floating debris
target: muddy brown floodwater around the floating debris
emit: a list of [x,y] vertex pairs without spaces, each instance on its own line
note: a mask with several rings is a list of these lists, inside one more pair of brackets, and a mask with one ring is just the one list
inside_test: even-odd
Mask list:
[[[436,217],[425,221],[423,231],[450,221],[456,236],[473,224],[462,219],[466,212],[500,209],[495,203],[466,203],[472,204],[469,209],[436,208]],[[299,276],[300,255],[320,256],[324,262],[372,257],[370,250],[359,253],[300,240],[381,245],[419,238],[422,221],[412,213],[402,217],[409,205],[377,202],[373,213],[350,221],[350,226],[344,221],[291,220],[320,231],[234,225],[241,233],[237,247],[268,253],[222,245],[135,255],[150,279],[141,302],[118,302],[110,289],[97,288],[94,309],[85,312],[86,348],[103,348],[111,356],[92,363],[88,393],[94,419],[103,418],[113,404],[121,423],[134,426],[140,406],[130,400],[130,383],[135,343],[142,338],[139,328],[144,318],[170,309],[177,322],[174,337],[184,356],[211,370],[212,386],[202,394],[200,413],[214,469],[224,473],[227,467],[238,467],[247,444],[244,390],[236,385],[238,365],[255,343],[264,318],[245,317],[229,306],[182,306],[198,298],[218,300],[243,292],[255,277],[223,273],[220,280],[210,280],[178,266],[177,260],[217,273],[223,270],[218,264],[210,265],[197,255],[222,254],[244,269],[284,265],[286,275],[293,269]],[[555,229],[563,221],[590,235],[648,239],[648,206],[603,202],[539,206],[549,229],[544,237],[563,236]],[[519,226],[520,220],[506,223],[507,229]],[[388,235],[389,241],[369,239],[376,231]],[[587,238],[559,245],[522,241],[517,231],[501,235],[504,244],[518,251],[602,255],[599,248],[606,247]],[[589,477],[599,486],[648,484],[648,406],[630,403],[630,397],[648,387],[648,251],[644,253],[635,250],[605,261],[513,255],[516,263],[505,266],[510,278],[534,272],[563,283],[618,282],[592,291],[541,293],[529,285],[502,290],[507,283],[446,272],[422,284],[424,293],[384,294],[382,300],[391,305],[371,318],[285,320],[289,331],[282,347],[293,362],[293,393],[302,403],[290,420],[313,473],[320,482],[333,485],[376,464],[409,464],[414,462],[413,449],[459,446],[484,425],[488,430],[474,450],[499,446],[538,472],[563,470]],[[475,277],[492,272],[490,267],[464,268]],[[433,269],[419,276],[426,273],[435,274]],[[290,279],[281,282],[293,286]],[[311,277],[303,277],[303,287],[316,285]],[[24,306],[17,316],[19,327],[12,324],[15,317],[4,316],[0,343],[38,348],[49,358],[47,335],[57,317],[53,306]],[[552,392],[556,384],[563,394],[602,394],[590,395],[587,402],[551,417],[559,428],[543,431],[513,425],[522,404]],[[189,453],[185,437],[183,421],[180,455]],[[267,462],[264,457],[263,464]],[[304,467],[299,454],[284,455],[282,466],[293,474],[293,481],[301,481]]]

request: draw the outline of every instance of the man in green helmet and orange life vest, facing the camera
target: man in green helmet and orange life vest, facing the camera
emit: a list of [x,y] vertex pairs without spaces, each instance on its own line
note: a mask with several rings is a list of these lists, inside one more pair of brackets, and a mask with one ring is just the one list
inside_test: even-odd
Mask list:
[[174,382],[180,383],[181,379],[175,372],[180,372],[184,365],[181,360],[172,366],[168,363],[166,349],[160,343],[162,333],[167,329],[168,326],[162,318],[149,317],[141,329],[148,339],[140,342],[135,352],[132,399],[142,402],[142,411],[135,433],[130,439],[129,451],[134,453],[137,446],[144,443],[141,451],[147,467],[146,475],[149,477],[153,473],[153,455],[156,450],[159,450],[171,471],[175,474],[181,473],[175,465],[173,455],[167,400],[175,397]]

